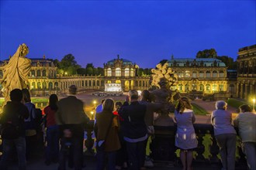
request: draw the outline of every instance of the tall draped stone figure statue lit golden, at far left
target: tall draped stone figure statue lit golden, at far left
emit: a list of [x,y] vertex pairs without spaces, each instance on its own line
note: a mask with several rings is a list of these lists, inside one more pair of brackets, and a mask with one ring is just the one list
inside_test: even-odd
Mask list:
[[3,67],[2,93],[5,103],[10,100],[10,92],[13,89],[29,87],[28,75],[31,69],[31,60],[26,58],[29,47],[25,43],[19,45],[16,53],[9,59],[9,63]]

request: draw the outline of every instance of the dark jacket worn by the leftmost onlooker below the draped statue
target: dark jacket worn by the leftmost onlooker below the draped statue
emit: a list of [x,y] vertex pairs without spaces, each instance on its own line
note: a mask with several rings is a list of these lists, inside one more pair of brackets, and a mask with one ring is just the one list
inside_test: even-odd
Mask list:
[[29,110],[27,107],[15,101],[8,101],[3,108],[0,124],[12,121],[12,124],[19,126],[19,136],[25,136],[24,119],[29,117]]

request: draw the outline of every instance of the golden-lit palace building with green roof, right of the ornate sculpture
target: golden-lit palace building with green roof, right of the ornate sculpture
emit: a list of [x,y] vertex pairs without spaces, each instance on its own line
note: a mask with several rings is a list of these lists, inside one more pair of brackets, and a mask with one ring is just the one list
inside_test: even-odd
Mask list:
[[227,66],[220,59],[171,59],[168,66],[178,74],[178,83],[171,88],[180,93],[215,93],[215,97],[225,98],[234,87],[227,79]]

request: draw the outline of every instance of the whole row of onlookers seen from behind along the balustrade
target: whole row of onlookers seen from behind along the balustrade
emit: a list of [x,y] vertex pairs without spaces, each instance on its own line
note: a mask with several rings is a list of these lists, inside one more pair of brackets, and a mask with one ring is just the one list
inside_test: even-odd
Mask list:
[[[41,117],[47,128],[45,164],[58,162],[58,170],[66,169],[66,162],[76,170],[84,166],[84,131],[89,118],[76,93],[77,87],[71,85],[69,95],[61,100],[58,100],[56,94],[51,94],[49,105],[43,110],[45,115]],[[130,90],[124,103],[106,98],[96,107],[94,132],[97,170],[146,169],[146,146],[148,138],[154,135],[154,113],[161,113],[165,106],[152,102],[150,95],[148,90],[144,90],[141,97],[137,90]],[[12,90],[10,98],[11,101],[3,107],[0,118],[3,139],[0,169],[8,169],[9,157],[14,148],[17,151],[19,169],[26,169],[26,160],[29,159],[38,131],[38,111],[31,103],[29,90]],[[177,124],[175,147],[180,149],[182,169],[192,170],[192,151],[197,148],[198,141],[193,126],[195,113],[189,98],[180,97],[177,100],[174,119]],[[227,103],[223,100],[216,101],[211,123],[220,147],[222,169],[235,169],[238,133],[247,158],[247,167],[256,170],[256,114],[251,107],[240,106],[240,114],[232,120],[232,114],[227,111]]]

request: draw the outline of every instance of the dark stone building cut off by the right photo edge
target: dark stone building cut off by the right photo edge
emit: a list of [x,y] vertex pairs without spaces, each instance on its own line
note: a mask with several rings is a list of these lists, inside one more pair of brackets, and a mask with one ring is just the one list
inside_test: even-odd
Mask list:
[[256,97],[256,45],[238,50],[237,97],[248,100]]

